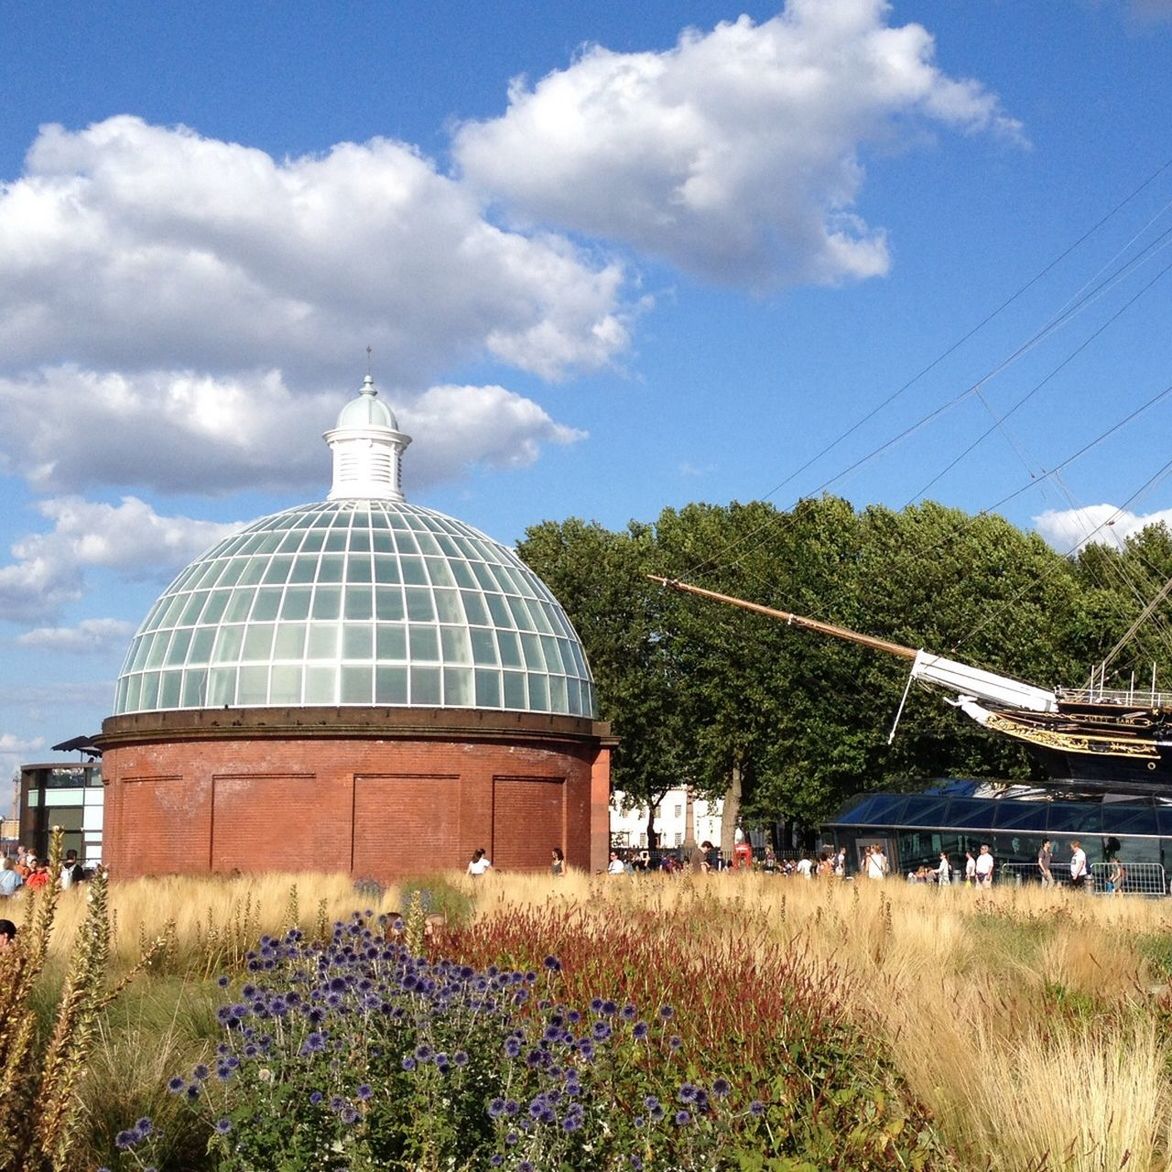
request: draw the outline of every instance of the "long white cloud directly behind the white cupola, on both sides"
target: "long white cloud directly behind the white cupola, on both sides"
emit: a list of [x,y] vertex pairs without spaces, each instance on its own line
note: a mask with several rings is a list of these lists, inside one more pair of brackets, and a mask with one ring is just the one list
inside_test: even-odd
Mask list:
[[[498,386],[380,394],[415,440],[406,457],[409,490],[452,479],[475,464],[529,464],[541,444],[584,435]],[[0,459],[42,492],[134,484],[207,495],[297,490],[319,499],[331,479],[321,435],[345,401],[338,393],[294,395],[278,372],[213,377],[42,370],[0,379]],[[55,402],[69,409],[46,410]]]

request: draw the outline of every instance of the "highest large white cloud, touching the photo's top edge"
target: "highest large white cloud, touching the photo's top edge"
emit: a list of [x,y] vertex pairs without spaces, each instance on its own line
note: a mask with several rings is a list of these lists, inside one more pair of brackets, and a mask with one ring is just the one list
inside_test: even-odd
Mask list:
[[883,0],[789,0],[778,16],[686,32],[666,53],[592,46],[507,111],[465,123],[463,173],[518,217],[627,241],[703,277],[769,287],[881,274],[853,206],[860,151],[919,125],[1020,127],[933,64]]

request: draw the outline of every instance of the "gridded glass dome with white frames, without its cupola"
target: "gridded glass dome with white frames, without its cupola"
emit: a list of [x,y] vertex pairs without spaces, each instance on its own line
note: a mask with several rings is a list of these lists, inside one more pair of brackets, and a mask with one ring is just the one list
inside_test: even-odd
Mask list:
[[115,714],[339,704],[595,715],[544,582],[470,525],[391,499],[289,509],[193,561],[135,635]]

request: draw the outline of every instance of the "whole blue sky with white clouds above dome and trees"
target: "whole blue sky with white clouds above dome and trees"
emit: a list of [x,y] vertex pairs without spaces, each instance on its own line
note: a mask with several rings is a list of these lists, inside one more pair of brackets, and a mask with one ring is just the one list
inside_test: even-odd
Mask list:
[[325,496],[367,346],[408,496],[505,541],[1172,507],[1172,395],[1045,475],[1172,384],[1168,0],[12,4],[0,109],[4,776]]

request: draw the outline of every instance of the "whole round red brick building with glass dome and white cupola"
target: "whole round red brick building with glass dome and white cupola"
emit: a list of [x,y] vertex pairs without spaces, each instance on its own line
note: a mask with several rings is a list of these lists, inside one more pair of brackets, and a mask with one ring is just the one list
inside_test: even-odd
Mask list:
[[607,856],[613,741],[570,620],[509,548],[403,498],[410,437],[369,375],[329,497],[184,570],[98,744],[115,875],[391,879]]

